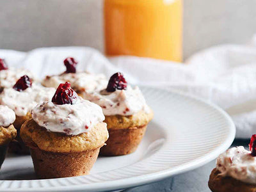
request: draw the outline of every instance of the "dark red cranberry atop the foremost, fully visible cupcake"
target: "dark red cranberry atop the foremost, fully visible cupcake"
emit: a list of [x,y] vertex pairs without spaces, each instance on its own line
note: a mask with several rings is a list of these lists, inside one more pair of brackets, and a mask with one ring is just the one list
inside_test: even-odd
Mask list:
[[78,95],[77,93],[72,90],[70,87],[70,83],[61,83],[55,94],[52,97],[52,102],[58,105],[63,104],[75,104],[77,102]]

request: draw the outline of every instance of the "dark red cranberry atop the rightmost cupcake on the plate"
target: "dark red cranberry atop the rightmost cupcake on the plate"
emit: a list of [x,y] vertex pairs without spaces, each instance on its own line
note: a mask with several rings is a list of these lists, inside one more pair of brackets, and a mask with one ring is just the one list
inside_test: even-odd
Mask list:
[[107,92],[115,92],[115,90],[126,90],[127,82],[122,73],[117,72],[110,77],[108,81],[108,86],[106,88]]

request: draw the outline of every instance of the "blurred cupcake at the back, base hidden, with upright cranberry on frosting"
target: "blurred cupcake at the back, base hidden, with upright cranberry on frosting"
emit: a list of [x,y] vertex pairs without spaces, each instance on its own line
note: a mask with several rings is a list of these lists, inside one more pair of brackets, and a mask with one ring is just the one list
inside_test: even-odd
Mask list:
[[66,58],[64,65],[67,68],[65,72],[58,76],[47,76],[42,81],[42,85],[57,88],[60,83],[68,81],[72,89],[78,94],[83,92],[92,92],[102,90],[108,84],[103,74],[90,74],[88,72],[77,72],[77,61],[74,58]]

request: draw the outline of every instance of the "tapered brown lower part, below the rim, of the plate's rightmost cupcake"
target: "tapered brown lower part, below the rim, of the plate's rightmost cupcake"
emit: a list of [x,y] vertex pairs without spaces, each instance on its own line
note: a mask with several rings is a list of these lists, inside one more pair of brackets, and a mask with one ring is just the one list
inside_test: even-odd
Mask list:
[[109,129],[109,139],[105,146],[100,148],[102,156],[122,156],[135,152],[140,144],[147,125],[129,127],[128,129]]

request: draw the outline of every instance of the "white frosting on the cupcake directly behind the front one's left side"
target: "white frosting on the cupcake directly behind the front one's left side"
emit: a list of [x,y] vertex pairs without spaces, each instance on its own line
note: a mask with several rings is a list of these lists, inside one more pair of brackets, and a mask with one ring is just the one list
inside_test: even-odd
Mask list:
[[46,88],[36,84],[22,92],[13,88],[4,88],[0,95],[0,104],[13,109],[17,116],[26,116],[36,104],[51,100],[55,91],[54,88]]

